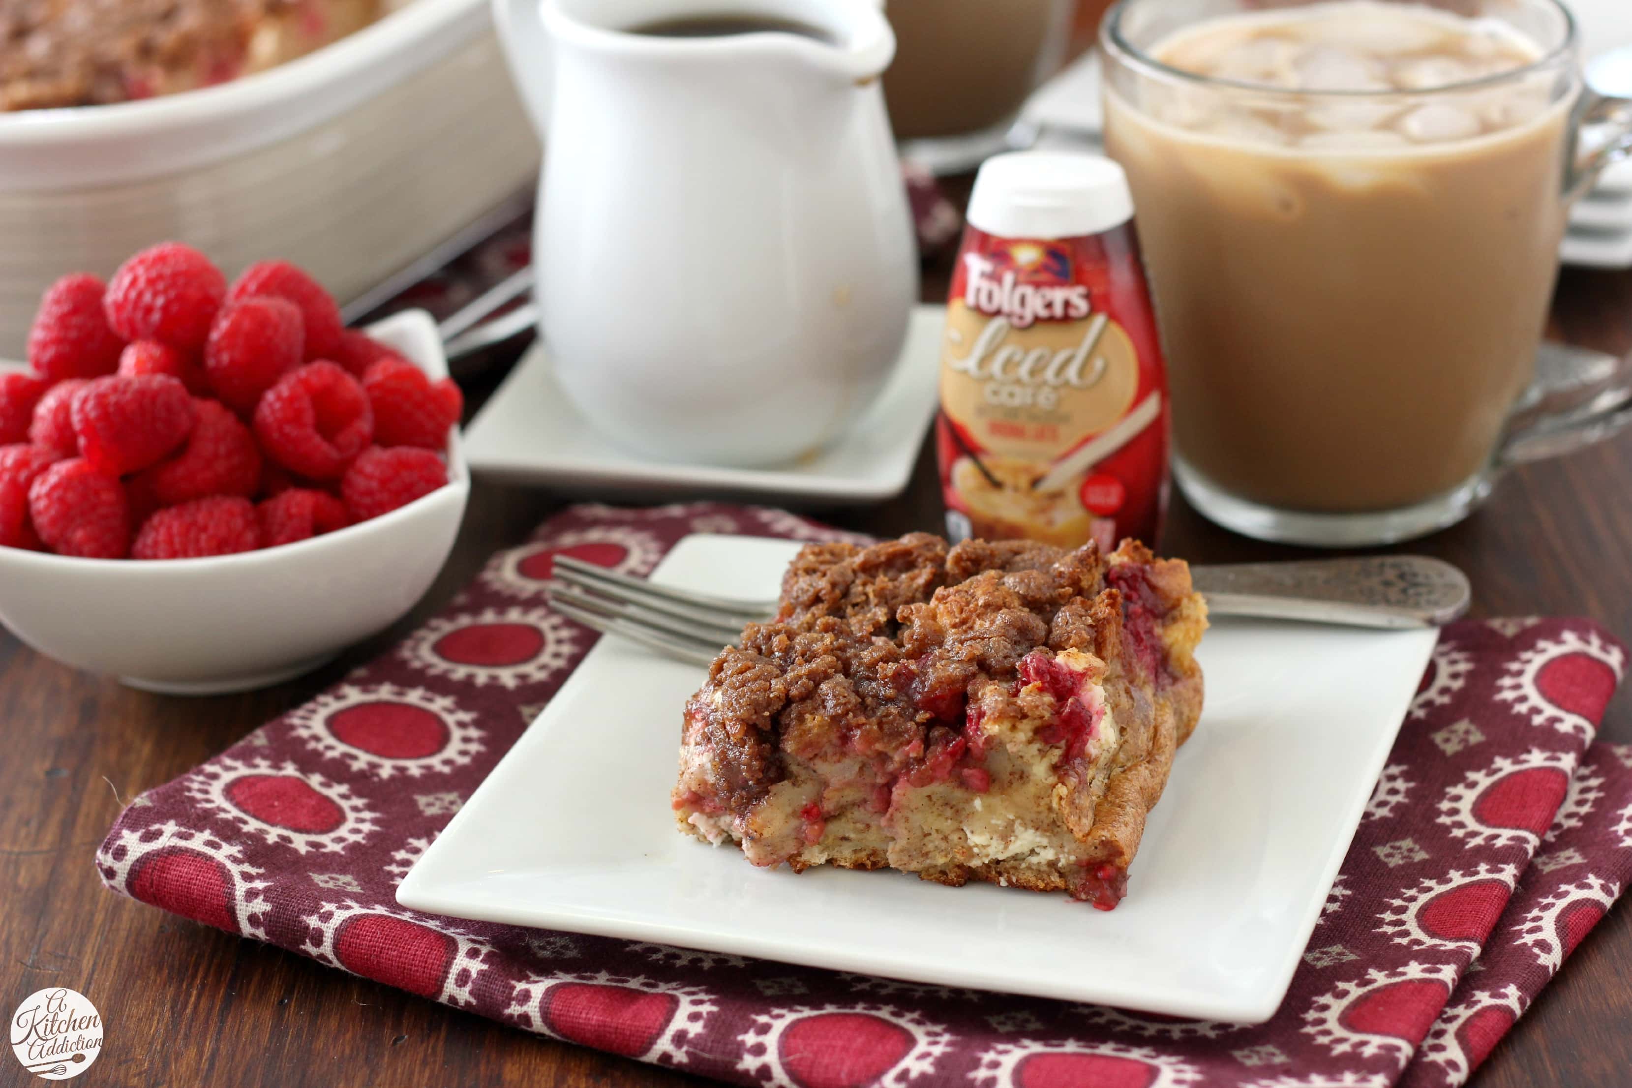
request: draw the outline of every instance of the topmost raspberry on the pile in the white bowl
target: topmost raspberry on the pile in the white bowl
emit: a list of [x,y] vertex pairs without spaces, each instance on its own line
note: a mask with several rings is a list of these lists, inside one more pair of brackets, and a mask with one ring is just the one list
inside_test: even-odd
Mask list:
[[142,250],[108,281],[108,325],[126,339],[157,339],[197,352],[227,297],[227,277],[180,241]]

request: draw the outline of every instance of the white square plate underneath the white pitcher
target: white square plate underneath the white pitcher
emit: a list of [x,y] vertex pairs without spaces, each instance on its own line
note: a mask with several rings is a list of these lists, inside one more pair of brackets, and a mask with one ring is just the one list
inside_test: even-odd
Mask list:
[[715,468],[630,453],[578,414],[537,344],[465,429],[465,455],[478,475],[597,498],[707,493],[792,498],[806,506],[878,502],[907,486],[935,416],[945,325],[947,307],[914,307],[901,362],[873,406],[826,450],[787,468]]

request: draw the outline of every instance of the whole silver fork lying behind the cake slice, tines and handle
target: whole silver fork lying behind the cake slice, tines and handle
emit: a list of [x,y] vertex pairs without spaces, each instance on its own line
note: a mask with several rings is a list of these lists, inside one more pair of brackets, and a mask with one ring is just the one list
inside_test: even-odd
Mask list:
[[[1439,626],[1472,599],[1462,571],[1418,555],[1191,566],[1190,576],[1213,615],[1340,626]],[[775,600],[672,589],[571,556],[555,558],[548,589],[561,615],[698,666],[736,643],[744,623],[777,613]]]

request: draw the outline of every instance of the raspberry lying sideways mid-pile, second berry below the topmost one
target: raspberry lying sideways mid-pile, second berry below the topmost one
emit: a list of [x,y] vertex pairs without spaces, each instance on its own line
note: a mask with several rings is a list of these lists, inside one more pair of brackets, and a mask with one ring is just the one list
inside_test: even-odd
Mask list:
[[191,431],[188,387],[163,374],[95,378],[73,398],[80,457],[109,476],[147,468]]

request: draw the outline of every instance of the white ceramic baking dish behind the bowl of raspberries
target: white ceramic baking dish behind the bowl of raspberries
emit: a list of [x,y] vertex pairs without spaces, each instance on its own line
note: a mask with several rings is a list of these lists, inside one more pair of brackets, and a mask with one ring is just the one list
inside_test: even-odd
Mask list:
[[539,140],[486,0],[411,0],[307,57],[165,98],[0,114],[0,356],[39,295],[180,238],[343,302],[529,188]]

